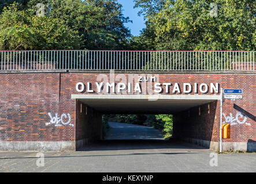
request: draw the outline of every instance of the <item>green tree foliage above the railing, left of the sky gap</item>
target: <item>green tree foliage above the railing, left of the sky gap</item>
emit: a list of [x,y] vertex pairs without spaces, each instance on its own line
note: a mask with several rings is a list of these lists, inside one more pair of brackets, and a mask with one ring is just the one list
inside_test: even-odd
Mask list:
[[[1,49],[125,49],[131,36],[116,0],[8,1],[0,5]],[[23,4],[21,4],[23,3]],[[38,3],[44,17],[36,16]]]

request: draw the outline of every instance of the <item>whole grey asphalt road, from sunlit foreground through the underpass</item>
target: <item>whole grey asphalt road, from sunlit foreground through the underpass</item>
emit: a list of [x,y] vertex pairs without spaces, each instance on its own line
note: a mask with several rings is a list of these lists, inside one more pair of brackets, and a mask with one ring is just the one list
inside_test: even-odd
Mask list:
[[44,152],[43,158],[36,152],[0,152],[0,172],[256,172],[256,154],[211,155],[194,144],[164,141],[152,128],[110,125],[107,140],[76,152]]

